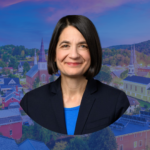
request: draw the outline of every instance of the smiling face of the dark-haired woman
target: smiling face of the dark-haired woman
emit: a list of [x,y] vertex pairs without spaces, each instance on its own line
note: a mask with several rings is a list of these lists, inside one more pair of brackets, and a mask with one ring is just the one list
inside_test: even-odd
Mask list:
[[67,26],[61,32],[56,46],[55,61],[62,76],[82,76],[90,67],[91,57],[88,45],[75,27]]

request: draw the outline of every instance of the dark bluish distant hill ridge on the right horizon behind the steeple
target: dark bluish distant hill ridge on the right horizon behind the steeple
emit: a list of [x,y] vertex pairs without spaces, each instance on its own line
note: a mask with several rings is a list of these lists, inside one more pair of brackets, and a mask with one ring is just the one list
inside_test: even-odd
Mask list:
[[[116,46],[109,46],[107,47],[109,49],[128,49],[131,50],[131,45],[116,45]],[[105,49],[105,48],[104,48]],[[146,55],[150,55],[150,40],[136,43],[135,44],[135,50],[138,52],[143,52]]]

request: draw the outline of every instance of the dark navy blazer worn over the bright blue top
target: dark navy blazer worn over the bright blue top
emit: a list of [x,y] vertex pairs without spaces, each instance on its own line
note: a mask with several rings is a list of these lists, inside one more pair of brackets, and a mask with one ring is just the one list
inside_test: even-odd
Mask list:
[[[88,80],[75,127],[75,135],[101,130],[115,122],[129,107],[122,90],[93,78]],[[61,76],[54,82],[27,92],[20,106],[39,125],[67,134],[61,91]]]

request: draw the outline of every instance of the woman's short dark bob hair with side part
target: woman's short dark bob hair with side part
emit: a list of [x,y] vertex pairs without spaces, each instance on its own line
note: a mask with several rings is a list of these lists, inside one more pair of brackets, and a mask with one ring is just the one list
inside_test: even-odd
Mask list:
[[84,73],[84,76],[86,79],[91,79],[100,72],[102,65],[102,48],[94,24],[90,21],[90,19],[82,15],[64,16],[56,24],[48,49],[48,73],[52,75],[58,72],[55,62],[56,46],[62,30],[67,26],[75,27],[83,35],[87,42],[91,56],[91,65]]

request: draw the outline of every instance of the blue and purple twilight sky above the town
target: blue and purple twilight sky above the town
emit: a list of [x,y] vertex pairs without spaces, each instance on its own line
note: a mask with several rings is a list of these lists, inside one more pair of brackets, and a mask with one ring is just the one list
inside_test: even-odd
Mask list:
[[84,15],[102,48],[150,40],[150,0],[0,0],[0,46],[48,49],[59,19]]

